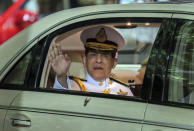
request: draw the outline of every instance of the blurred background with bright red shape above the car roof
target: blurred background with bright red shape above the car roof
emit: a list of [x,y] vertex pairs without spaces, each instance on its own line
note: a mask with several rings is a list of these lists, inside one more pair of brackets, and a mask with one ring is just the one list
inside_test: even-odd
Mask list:
[[81,6],[168,0],[0,0],[0,45],[51,13]]

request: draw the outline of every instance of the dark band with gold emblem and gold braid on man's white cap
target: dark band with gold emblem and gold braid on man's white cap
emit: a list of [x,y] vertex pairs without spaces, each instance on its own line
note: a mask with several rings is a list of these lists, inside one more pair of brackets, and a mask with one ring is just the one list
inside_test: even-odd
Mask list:
[[117,44],[107,40],[107,35],[104,28],[99,30],[95,39],[88,39],[85,47],[102,51],[113,51],[117,50],[118,48]]

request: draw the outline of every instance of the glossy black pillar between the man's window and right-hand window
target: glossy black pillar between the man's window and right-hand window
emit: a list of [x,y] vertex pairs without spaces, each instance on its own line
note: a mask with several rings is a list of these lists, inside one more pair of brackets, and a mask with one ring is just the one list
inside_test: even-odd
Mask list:
[[146,67],[144,92],[149,92],[145,98],[150,98],[154,101],[166,99],[164,96],[165,76],[167,69],[167,56],[174,33],[174,22],[171,19],[164,19],[161,23],[153,49],[150,53],[149,64]]

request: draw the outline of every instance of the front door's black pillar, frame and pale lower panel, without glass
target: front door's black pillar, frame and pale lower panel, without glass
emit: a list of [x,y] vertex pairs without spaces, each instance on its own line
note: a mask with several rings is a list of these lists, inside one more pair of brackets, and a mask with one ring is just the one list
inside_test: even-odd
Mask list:
[[[172,52],[173,46],[175,46],[174,33],[176,31],[176,19],[190,19],[194,20],[193,14],[187,13],[173,13],[172,20],[169,27],[166,28],[168,35],[163,35],[167,37],[166,45],[168,46],[157,46],[160,47],[158,50],[164,50],[166,55],[157,55],[156,59],[152,62],[160,63],[157,65],[162,65],[157,67],[154,71],[149,73],[153,74],[151,94],[148,96],[148,106],[145,113],[145,121],[142,131],[154,131],[154,130],[165,130],[165,131],[187,131],[193,130],[193,109],[192,105],[169,102],[168,101],[168,88],[167,88],[167,72],[170,54]],[[170,33],[171,31],[171,33]],[[168,33],[169,32],[169,33]],[[165,43],[164,42],[164,43]],[[159,42],[160,43],[160,42]],[[164,44],[161,42],[160,44]],[[165,45],[165,44],[164,44]],[[162,58],[162,60],[161,60]],[[159,72],[159,73],[158,73]],[[159,89],[158,89],[159,88]]]

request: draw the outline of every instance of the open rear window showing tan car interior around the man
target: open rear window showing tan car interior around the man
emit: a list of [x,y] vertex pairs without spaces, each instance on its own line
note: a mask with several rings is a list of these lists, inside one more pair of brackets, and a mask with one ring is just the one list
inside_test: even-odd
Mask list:
[[[112,70],[111,77],[127,86],[131,86],[130,88],[135,96],[140,96],[146,65],[161,22],[161,19],[127,19],[124,21],[119,19],[118,22],[116,20],[115,22],[109,22],[108,20],[104,22],[103,20],[99,24],[116,29],[124,37],[126,44],[118,52],[118,64]],[[86,77],[86,68],[83,63],[85,49],[80,41],[80,34],[84,29],[92,26],[98,26],[98,24],[80,26],[61,33],[52,39],[51,46],[53,44],[61,46],[63,54],[68,54],[72,60],[67,73],[68,76],[81,79]],[[45,70],[45,76],[47,76],[47,79],[42,78],[45,82],[43,88],[53,89],[56,76],[48,57],[46,59],[47,66],[43,69]]]

